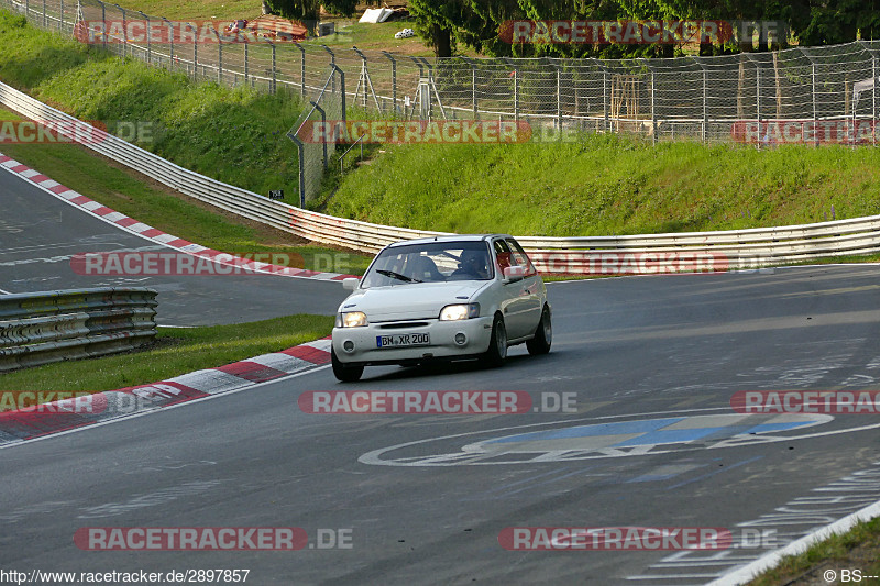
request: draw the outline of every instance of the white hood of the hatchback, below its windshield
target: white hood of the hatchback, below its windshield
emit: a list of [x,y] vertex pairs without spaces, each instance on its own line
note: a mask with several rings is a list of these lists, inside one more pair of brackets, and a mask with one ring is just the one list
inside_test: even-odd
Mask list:
[[370,322],[431,319],[440,314],[443,306],[470,302],[490,283],[414,283],[359,289],[339,310],[363,311]]

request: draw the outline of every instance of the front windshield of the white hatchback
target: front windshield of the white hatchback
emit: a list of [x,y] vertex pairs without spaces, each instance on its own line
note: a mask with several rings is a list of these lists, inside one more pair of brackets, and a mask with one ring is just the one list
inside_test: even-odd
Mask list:
[[484,242],[426,242],[382,251],[364,275],[361,287],[488,280],[494,276]]

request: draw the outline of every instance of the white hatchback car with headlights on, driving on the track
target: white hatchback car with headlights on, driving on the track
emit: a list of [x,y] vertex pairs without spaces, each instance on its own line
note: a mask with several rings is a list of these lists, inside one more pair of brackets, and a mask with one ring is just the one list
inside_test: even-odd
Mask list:
[[333,328],[331,357],[340,380],[364,366],[482,358],[501,365],[507,346],[550,351],[547,288],[522,247],[506,234],[397,242],[383,248]]

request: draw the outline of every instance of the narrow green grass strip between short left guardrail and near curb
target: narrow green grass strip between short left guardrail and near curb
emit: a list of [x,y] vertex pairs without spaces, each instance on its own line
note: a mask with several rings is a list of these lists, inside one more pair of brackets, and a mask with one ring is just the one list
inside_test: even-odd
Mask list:
[[232,325],[160,328],[152,350],[59,362],[0,375],[0,390],[91,391],[145,385],[277,352],[330,334],[333,318],[289,316]]

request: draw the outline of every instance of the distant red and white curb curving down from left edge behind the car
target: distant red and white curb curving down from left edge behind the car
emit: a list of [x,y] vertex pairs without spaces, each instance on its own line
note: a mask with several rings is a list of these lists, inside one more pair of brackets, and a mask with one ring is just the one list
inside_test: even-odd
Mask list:
[[[32,184],[36,185],[44,191],[55,196],[56,198],[70,203],[72,206],[77,207],[78,209],[82,210],[86,213],[90,213],[96,218],[100,218],[101,220],[116,224],[122,230],[127,232],[131,232],[133,234],[138,234],[139,236],[155,242],[156,244],[161,244],[163,246],[167,246],[169,248],[174,248],[176,251],[193,255],[199,256],[202,258],[207,258],[211,262],[228,265],[228,266],[235,266],[242,269],[254,272],[254,273],[264,273],[271,275],[279,275],[284,277],[295,277],[295,278],[308,278],[308,279],[320,279],[320,280],[342,280],[346,277],[354,277],[356,275],[343,275],[340,273],[321,273],[317,270],[307,270],[305,268],[293,268],[287,266],[279,266],[273,265],[270,263],[261,263],[257,261],[250,261],[248,258],[242,258],[239,256],[232,256],[227,253],[221,253],[220,251],[215,251],[213,248],[208,248],[207,246],[202,246],[200,244],[195,244],[193,242],[186,241],[184,239],[179,239],[175,235],[168,234],[158,230],[157,228],[153,228],[152,225],[147,225],[143,222],[139,222],[133,218],[129,218],[124,213],[120,213],[116,210],[108,208],[90,199],[73,189],[63,186],[58,181],[48,178],[47,176],[43,175],[36,169],[32,169],[31,167],[19,163],[14,158],[0,153],[0,167],[22,177],[31,181]],[[218,259],[218,256],[222,255],[222,259]]]

